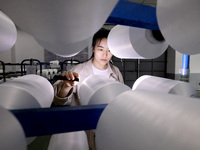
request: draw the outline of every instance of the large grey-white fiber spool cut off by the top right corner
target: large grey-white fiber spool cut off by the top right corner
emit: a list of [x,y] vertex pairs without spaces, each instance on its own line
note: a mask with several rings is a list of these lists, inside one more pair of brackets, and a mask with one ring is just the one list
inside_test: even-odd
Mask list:
[[158,0],[158,25],[171,47],[183,54],[200,53],[200,1]]

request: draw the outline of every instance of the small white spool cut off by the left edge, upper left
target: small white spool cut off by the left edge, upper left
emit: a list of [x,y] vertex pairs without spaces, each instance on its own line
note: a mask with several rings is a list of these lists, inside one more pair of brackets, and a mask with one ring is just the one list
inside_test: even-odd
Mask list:
[[17,39],[17,29],[13,21],[0,11],[0,52],[10,50]]

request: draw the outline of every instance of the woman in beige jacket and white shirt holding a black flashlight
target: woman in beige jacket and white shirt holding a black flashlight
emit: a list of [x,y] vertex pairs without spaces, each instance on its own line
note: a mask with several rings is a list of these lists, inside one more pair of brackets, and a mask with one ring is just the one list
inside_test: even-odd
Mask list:
[[109,30],[100,29],[92,40],[93,56],[92,58],[66,71],[62,76],[66,76],[69,80],[75,77],[79,78],[79,82],[75,86],[75,81],[57,81],[54,84],[55,96],[54,105],[80,105],[79,88],[84,79],[93,74],[106,76],[124,83],[123,77],[119,69],[110,64],[112,54],[107,45],[107,37]]

